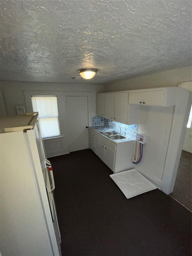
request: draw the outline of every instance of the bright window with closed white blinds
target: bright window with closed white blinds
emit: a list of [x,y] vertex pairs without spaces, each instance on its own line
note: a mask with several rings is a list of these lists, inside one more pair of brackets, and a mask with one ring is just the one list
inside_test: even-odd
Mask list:
[[60,135],[56,96],[32,96],[33,111],[39,112],[42,138]]

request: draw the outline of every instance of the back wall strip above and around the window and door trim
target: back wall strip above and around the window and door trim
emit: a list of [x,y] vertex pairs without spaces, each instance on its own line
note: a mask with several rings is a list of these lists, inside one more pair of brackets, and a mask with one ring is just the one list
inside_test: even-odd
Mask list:
[[7,115],[16,115],[15,106],[25,105],[23,91],[75,91],[91,92],[92,104],[91,115],[96,115],[96,92],[104,91],[104,85],[95,84],[60,84],[60,83],[33,83],[33,82],[13,82],[0,81],[0,89],[3,92]]

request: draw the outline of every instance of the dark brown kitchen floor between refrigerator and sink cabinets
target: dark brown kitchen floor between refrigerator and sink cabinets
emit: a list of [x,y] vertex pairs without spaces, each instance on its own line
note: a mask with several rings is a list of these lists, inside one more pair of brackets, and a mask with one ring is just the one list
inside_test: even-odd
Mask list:
[[126,199],[90,149],[49,160],[63,256],[191,256],[191,212],[173,198]]

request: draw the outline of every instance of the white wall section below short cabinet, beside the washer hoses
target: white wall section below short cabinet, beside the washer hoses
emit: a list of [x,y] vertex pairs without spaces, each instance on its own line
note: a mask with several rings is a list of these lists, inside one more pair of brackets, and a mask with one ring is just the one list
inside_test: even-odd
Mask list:
[[138,133],[146,134],[147,138],[143,146],[143,160],[135,165],[135,169],[161,188],[174,106],[139,108],[139,119],[143,123],[138,124]]

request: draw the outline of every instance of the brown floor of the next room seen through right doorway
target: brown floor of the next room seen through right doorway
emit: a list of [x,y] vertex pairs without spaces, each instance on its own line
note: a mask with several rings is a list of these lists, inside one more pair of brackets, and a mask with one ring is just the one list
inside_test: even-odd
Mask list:
[[192,154],[182,150],[173,193],[170,194],[188,209],[192,209]]

